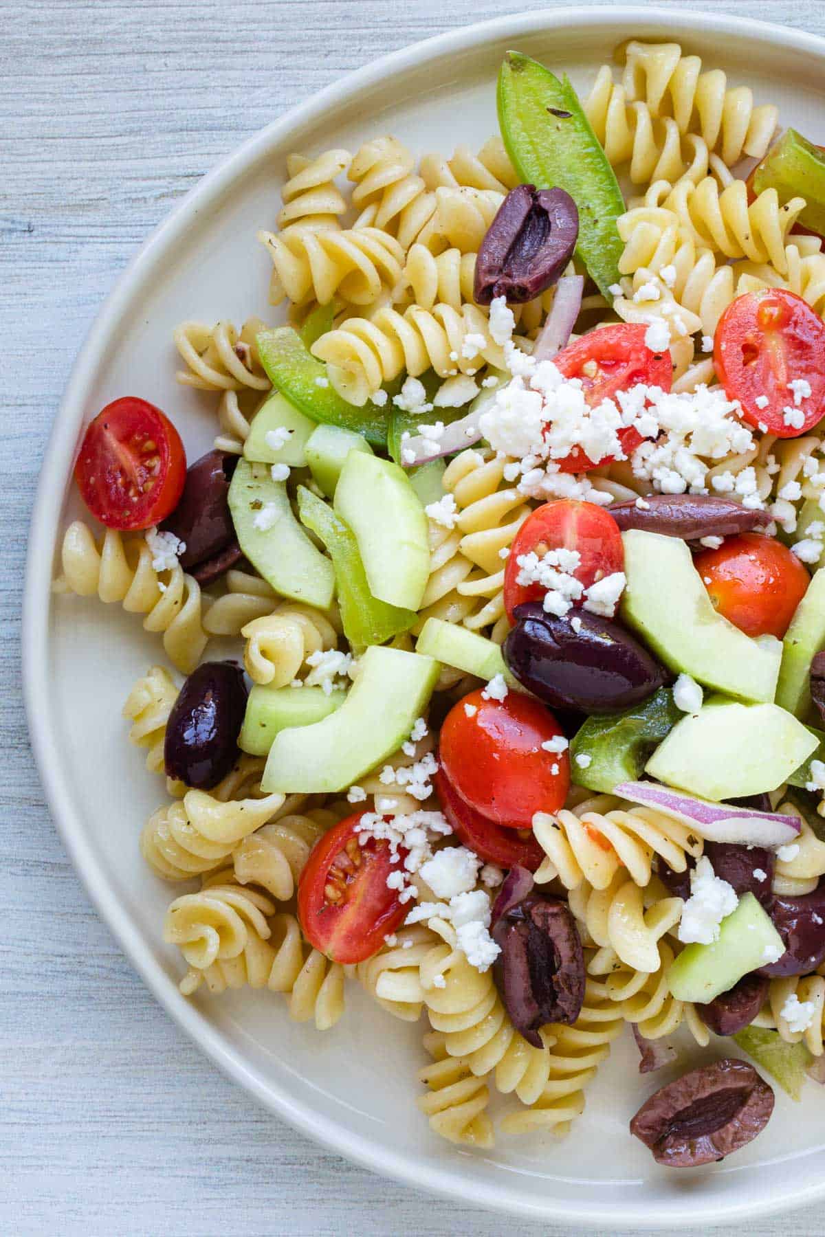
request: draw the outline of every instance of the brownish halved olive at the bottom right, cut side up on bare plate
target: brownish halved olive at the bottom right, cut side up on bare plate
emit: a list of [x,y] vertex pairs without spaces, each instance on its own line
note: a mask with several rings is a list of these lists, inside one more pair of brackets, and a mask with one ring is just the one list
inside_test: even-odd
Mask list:
[[726,1059],[683,1074],[656,1091],[631,1121],[669,1168],[695,1168],[745,1147],[768,1123],[773,1091],[746,1061]]

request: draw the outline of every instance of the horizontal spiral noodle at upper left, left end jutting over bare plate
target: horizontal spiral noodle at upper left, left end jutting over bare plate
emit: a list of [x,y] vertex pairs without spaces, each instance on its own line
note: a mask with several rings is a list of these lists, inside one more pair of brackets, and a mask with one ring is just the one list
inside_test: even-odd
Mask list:
[[272,259],[270,302],[293,304],[314,299],[329,304],[335,297],[369,306],[401,280],[404,252],[398,241],[380,228],[345,228],[313,231],[291,228],[286,233],[260,231],[257,239]]

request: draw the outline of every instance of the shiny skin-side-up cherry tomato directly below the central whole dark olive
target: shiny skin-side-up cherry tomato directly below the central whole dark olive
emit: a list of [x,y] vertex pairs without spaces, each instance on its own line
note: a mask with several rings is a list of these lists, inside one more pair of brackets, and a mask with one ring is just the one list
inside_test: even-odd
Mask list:
[[[468,714],[466,705],[475,713]],[[453,789],[487,820],[532,829],[534,813],[558,811],[568,794],[566,751],[542,747],[562,734],[553,714],[531,696],[508,691],[503,700],[485,700],[481,690],[471,691],[444,719],[442,768]]]

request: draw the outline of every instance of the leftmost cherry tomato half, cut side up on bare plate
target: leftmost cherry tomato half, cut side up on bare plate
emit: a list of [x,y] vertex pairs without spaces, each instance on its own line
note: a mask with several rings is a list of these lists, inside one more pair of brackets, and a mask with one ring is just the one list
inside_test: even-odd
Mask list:
[[150,528],[171,515],[187,476],[177,429],[160,408],[127,396],[106,404],[85,432],[74,477],[101,524]]

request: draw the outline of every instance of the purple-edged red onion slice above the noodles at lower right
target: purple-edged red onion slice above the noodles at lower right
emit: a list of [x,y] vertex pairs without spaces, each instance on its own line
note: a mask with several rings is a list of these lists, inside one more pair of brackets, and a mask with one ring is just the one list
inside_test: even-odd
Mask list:
[[801,828],[797,816],[736,808],[731,803],[710,803],[659,782],[622,782],[613,794],[647,808],[658,808],[665,816],[691,825],[700,837],[711,842],[783,846],[793,841]]

